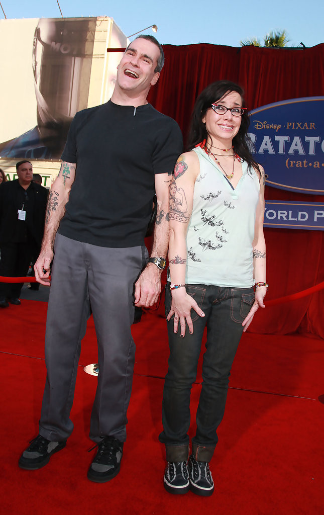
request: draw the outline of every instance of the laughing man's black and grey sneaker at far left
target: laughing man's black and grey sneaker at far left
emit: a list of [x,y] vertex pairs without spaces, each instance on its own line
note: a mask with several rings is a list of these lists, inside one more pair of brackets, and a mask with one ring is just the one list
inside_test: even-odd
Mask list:
[[51,442],[41,435],[31,440],[29,447],[21,455],[18,465],[21,469],[36,470],[48,464],[52,454],[61,451],[66,445],[62,442]]

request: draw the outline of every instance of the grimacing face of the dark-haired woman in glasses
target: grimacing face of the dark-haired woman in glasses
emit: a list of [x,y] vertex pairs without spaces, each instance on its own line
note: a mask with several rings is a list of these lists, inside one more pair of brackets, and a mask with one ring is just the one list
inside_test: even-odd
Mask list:
[[[220,100],[215,101],[222,106],[233,108],[242,107],[242,98],[236,91],[229,91]],[[208,109],[202,118],[206,124],[206,129],[210,138],[214,141],[231,141],[239,132],[241,126],[241,116],[233,116],[230,111],[225,114],[217,114],[212,108]]]

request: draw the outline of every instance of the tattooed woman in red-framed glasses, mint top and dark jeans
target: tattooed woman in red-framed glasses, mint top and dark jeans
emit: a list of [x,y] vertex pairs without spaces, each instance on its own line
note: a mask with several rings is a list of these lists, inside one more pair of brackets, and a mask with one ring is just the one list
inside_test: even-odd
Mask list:
[[[264,170],[246,140],[243,90],[210,84],[193,110],[188,152],[170,188],[170,277],[166,288],[169,368],[163,395],[166,490],[214,490],[209,461],[218,442],[230,369],[263,298]],[[203,384],[189,456],[190,390],[205,326]],[[188,459],[189,458],[189,459]]]

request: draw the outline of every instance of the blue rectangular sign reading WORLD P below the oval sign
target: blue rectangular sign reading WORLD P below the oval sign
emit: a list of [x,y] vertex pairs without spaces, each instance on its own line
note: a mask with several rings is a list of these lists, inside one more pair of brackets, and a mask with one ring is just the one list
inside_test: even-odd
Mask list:
[[324,204],[266,200],[264,227],[324,231]]

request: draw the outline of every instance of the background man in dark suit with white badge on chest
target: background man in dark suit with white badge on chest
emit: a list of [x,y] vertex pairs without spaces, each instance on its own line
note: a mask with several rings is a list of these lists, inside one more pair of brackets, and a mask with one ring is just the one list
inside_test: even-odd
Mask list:
[[[44,232],[47,190],[32,182],[32,164],[19,161],[17,177],[0,187],[0,276],[24,277]],[[0,282],[0,307],[20,304],[23,283]]]

